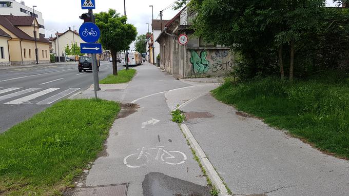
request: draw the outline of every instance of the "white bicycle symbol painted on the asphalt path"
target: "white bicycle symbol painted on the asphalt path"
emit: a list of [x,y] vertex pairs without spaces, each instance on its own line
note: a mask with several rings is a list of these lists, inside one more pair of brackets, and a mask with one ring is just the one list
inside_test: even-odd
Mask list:
[[[157,155],[153,156],[149,151],[157,150]],[[136,152],[139,149],[136,150]],[[166,151],[164,146],[156,148],[142,148],[140,152],[133,153],[124,158],[124,164],[130,168],[138,168],[149,163],[150,160],[161,160],[169,165],[183,164],[187,160],[187,156],[180,151]]]

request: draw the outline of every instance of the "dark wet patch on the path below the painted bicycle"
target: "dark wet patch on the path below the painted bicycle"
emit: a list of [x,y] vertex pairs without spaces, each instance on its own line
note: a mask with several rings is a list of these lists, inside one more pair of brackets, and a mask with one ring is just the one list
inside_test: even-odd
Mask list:
[[145,175],[142,184],[144,196],[210,196],[209,187],[158,172]]

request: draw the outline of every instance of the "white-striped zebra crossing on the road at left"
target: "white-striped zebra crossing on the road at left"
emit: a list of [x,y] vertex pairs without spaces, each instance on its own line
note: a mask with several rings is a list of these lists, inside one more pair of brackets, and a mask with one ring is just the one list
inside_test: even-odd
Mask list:
[[[18,105],[18,104],[36,104],[36,105],[47,105],[52,104],[81,88],[22,88],[22,87],[11,87],[3,88],[0,87],[0,102],[5,105]],[[63,91],[62,91],[63,90]],[[49,95],[46,99],[42,96]]]

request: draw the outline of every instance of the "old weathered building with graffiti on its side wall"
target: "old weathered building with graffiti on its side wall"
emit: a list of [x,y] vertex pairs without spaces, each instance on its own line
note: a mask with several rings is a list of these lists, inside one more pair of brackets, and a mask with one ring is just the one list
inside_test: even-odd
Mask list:
[[[185,7],[173,17],[156,38],[160,45],[160,67],[177,77],[224,76],[234,61],[230,48],[205,42],[193,35],[190,23],[195,17]],[[188,36],[186,45],[178,42],[181,34]]]

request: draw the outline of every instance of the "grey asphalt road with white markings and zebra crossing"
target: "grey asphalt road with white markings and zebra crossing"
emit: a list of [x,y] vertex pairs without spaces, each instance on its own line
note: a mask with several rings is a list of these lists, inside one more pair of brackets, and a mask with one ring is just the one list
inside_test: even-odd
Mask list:
[[[111,63],[101,62],[99,79],[111,73]],[[0,69],[0,133],[91,84],[93,73],[79,73],[75,62]]]

